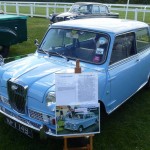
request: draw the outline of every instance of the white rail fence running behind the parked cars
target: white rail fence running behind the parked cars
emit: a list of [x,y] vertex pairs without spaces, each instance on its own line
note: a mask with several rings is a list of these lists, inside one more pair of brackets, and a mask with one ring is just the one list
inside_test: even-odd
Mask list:
[[[51,13],[66,12],[73,3],[60,2],[10,2],[1,1],[0,9],[6,14],[27,15],[30,17],[49,17]],[[150,5],[129,5],[127,9],[126,4],[106,4],[110,11],[113,12],[132,12],[133,18],[138,20],[138,14],[142,13],[142,21],[145,21],[145,15],[150,14]],[[126,16],[122,16],[127,18]]]

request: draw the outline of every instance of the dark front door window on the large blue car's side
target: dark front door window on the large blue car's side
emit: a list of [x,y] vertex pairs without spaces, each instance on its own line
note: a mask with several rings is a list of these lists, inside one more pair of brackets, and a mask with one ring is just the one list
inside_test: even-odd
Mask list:
[[123,60],[135,53],[135,34],[127,33],[119,35],[115,38],[110,64]]

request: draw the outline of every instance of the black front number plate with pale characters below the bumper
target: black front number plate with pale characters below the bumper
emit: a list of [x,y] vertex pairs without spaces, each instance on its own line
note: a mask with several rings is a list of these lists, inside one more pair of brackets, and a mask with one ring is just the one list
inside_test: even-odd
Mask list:
[[24,133],[25,135],[29,136],[29,137],[33,137],[33,133],[32,130],[10,118],[5,118],[5,122],[10,125],[11,127],[19,130],[20,132]]

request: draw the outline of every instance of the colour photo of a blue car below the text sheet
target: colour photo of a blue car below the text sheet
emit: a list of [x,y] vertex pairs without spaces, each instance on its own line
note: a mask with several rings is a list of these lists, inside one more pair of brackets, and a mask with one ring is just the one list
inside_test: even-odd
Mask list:
[[57,135],[100,133],[99,104],[56,106]]

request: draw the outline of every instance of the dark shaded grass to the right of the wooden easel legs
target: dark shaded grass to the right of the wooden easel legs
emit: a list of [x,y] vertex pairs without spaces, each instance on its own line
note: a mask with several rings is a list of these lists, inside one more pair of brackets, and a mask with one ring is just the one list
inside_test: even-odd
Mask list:
[[150,91],[141,90],[102,123],[94,147],[104,150],[149,150]]

